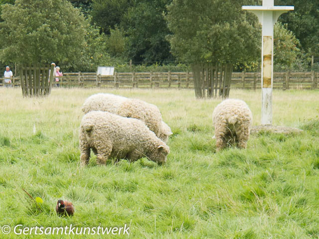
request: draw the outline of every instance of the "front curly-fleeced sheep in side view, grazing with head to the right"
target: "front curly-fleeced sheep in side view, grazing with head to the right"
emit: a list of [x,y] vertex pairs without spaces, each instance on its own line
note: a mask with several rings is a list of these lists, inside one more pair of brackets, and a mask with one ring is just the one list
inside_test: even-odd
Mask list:
[[79,141],[83,164],[88,163],[91,149],[100,164],[109,158],[136,161],[142,157],[164,163],[169,153],[169,147],[143,121],[103,111],[83,116]]

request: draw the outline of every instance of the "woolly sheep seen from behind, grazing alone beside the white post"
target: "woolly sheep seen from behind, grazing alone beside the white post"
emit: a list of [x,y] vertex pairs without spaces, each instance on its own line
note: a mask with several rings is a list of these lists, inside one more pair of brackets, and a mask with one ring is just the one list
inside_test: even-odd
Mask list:
[[252,121],[252,113],[242,100],[228,99],[217,105],[213,111],[216,151],[233,143],[246,148]]

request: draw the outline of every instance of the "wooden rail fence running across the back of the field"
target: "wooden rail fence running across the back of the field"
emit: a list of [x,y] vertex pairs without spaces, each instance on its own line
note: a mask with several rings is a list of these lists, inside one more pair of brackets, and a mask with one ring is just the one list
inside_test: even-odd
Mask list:
[[[318,89],[319,72],[275,72],[274,89]],[[19,77],[12,83],[20,87]],[[194,88],[191,72],[129,72],[113,76],[97,76],[95,72],[67,72],[59,77],[61,87],[107,88]],[[3,86],[3,79],[0,79]],[[233,72],[231,88],[260,89],[260,73]]]

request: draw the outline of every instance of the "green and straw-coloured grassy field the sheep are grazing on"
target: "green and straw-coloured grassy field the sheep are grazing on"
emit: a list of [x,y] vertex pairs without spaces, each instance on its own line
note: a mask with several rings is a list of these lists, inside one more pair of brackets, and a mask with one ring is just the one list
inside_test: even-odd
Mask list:
[[[170,125],[167,163],[143,158],[80,167],[84,100],[98,92],[156,104]],[[0,227],[130,227],[110,238],[319,238],[319,91],[274,91],[274,124],[298,135],[252,135],[248,148],[215,153],[211,114],[220,99],[193,90],[53,89],[22,98],[0,89]],[[232,90],[260,123],[261,92]],[[41,197],[36,207],[22,191]],[[75,205],[58,217],[58,199]],[[14,233],[0,238],[17,238]],[[23,238],[22,235],[19,238]],[[34,234],[25,238],[43,238]],[[47,238],[105,238],[48,236]]]

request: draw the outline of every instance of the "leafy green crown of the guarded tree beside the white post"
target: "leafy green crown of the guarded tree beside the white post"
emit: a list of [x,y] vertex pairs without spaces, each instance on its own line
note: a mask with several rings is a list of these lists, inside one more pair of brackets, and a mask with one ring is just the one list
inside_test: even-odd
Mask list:
[[180,60],[247,63],[260,57],[257,18],[242,10],[244,0],[173,0],[168,6],[168,37]]

